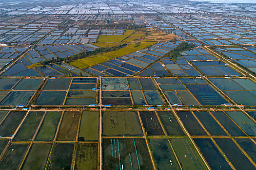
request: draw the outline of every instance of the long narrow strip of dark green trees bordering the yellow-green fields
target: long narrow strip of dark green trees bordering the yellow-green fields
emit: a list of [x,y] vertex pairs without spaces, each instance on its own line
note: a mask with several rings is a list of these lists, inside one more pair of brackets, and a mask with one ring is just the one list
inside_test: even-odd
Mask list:
[[61,62],[61,61],[70,62],[70,61],[73,61],[73,60],[89,57],[89,56],[92,56],[92,55],[97,55],[97,54],[102,53],[102,52],[115,51],[115,50],[118,50],[119,48],[124,47],[126,45],[127,44],[124,43],[124,44],[119,44],[119,45],[114,46],[114,47],[101,47],[101,48],[95,49],[94,51],[87,51],[86,50],[86,51],[82,51],[78,54],[75,54],[75,55],[72,55],[72,56],[69,56],[69,57],[65,57],[65,58],[60,58],[60,57],[54,58],[54,57],[52,57],[52,58],[49,58],[48,60],[40,61],[39,63],[41,65],[47,65],[49,63],[58,63],[58,62]]

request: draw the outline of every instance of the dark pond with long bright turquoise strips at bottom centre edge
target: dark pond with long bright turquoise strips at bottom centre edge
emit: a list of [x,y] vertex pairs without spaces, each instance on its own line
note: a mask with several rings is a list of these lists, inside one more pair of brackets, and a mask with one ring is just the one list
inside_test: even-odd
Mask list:
[[154,170],[143,138],[103,139],[103,170]]

